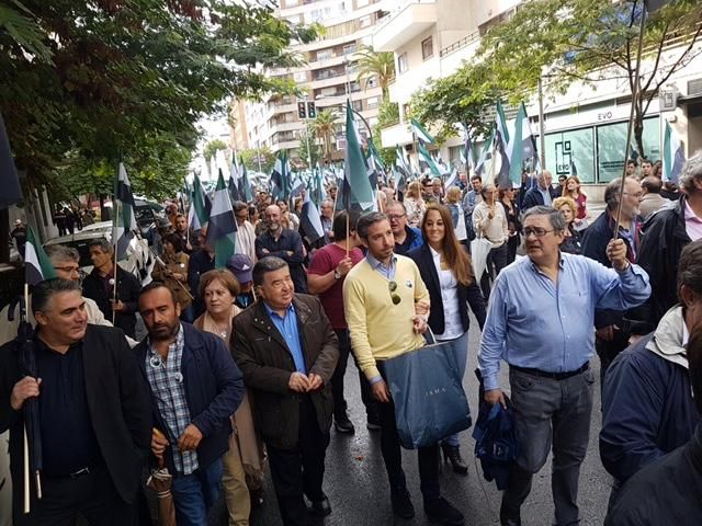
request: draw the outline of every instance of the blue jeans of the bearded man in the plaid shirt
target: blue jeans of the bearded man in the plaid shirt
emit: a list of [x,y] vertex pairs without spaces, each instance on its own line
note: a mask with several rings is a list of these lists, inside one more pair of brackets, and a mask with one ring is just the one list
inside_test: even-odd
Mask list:
[[178,526],[207,526],[207,510],[222,493],[222,458],[193,473],[173,477],[171,493]]

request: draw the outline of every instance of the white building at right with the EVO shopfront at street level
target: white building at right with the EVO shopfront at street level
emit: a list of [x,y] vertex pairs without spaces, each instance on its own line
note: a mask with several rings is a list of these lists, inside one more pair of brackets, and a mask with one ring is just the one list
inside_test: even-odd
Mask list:
[[[404,145],[412,150],[407,111],[412,93],[430,79],[454,72],[464,60],[474,59],[482,35],[508,20],[520,0],[395,0],[389,14],[375,28],[376,50],[393,52],[396,79],[389,96],[400,108],[400,123],[382,132],[384,147]],[[702,48],[702,43],[697,44]],[[671,43],[661,65],[680,53]],[[642,64],[642,71],[652,68]],[[631,92],[626,79],[600,81],[595,87],[573,84],[565,95],[555,96],[544,80],[544,138],[546,168],[554,174],[569,173],[577,167],[586,184],[603,185],[620,176],[623,145],[631,111]],[[702,148],[702,56],[675,73],[666,88],[670,105],[653,101],[644,122],[644,146],[648,157],[659,159],[666,122],[682,140],[687,155]],[[534,132],[539,105],[535,96],[526,103]],[[509,118],[509,115],[508,115]],[[460,158],[461,139],[449,140],[441,149],[444,159]],[[414,153],[412,153],[414,156]]]

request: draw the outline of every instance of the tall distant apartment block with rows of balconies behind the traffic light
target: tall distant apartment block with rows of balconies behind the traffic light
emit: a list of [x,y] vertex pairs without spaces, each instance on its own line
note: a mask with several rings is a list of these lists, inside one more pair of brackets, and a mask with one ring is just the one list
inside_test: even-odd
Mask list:
[[[372,44],[378,21],[388,14],[387,0],[281,0],[276,15],[293,24],[319,23],[324,33],[309,44],[296,45],[306,64],[298,68],[276,69],[268,73],[293,79],[306,91],[304,99],[270,95],[260,103],[239,101],[245,118],[234,123],[235,136],[246,135],[250,148],[287,150],[295,161],[306,122],[301,119],[297,102],[314,101],[317,112],[339,111],[349,96],[371,126],[375,123],[382,92],[375,80],[363,89],[358,79],[356,52]],[[341,134],[340,134],[341,135]],[[338,137],[337,139],[341,139]]]

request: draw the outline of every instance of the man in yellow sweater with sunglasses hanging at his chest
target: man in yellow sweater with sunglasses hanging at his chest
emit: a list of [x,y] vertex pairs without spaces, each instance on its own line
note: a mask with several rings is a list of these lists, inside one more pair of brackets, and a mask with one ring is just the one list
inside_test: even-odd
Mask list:
[[[390,485],[394,512],[403,518],[415,516],[401,466],[395,405],[385,382],[383,363],[387,358],[424,345],[429,293],[412,260],[394,253],[395,239],[387,217],[381,213],[361,216],[356,233],[367,249],[343,283],[351,347],[356,363],[381,402],[381,450]],[[418,449],[419,478],[424,512],[434,522],[463,524],[463,515],[441,496],[439,445]]]

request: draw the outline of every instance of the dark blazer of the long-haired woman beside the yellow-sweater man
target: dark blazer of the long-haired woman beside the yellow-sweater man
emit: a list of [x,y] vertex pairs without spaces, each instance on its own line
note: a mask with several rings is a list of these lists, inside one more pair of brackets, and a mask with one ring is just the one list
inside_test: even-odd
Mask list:
[[[439,283],[439,274],[437,273],[437,266],[434,265],[434,259],[431,255],[431,249],[427,243],[421,247],[409,251],[407,254],[411,258],[421,275],[422,282],[429,289],[429,300],[431,301],[431,309],[429,311],[429,327],[434,334],[442,334],[445,330],[444,308],[443,300],[441,299],[441,284]],[[478,320],[480,330],[485,324],[485,300],[483,299],[483,293],[480,287],[477,286],[475,279],[471,285],[457,286],[458,291],[458,313],[461,316],[461,324],[463,331],[468,330],[471,319],[468,318],[468,305],[471,310]]]

